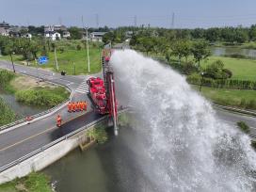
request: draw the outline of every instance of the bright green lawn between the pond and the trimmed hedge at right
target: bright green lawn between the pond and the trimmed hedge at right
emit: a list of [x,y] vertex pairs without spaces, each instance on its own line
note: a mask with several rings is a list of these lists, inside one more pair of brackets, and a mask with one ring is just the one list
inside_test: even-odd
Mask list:
[[232,79],[256,81],[256,60],[210,56],[201,62],[201,67],[205,68],[218,59],[224,62],[224,68],[232,71]]

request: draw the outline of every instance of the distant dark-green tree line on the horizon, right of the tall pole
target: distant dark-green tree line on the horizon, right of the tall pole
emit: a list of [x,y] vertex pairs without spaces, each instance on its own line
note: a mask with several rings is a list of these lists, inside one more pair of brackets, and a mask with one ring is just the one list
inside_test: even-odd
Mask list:
[[[139,36],[141,32],[144,37],[149,37],[152,34],[157,37],[163,37],[168,40],[185,39],[185,40],[208,40],[210,42],[224,41],[229,44],[243,43],[246,41],[256,40],[256,24],[250,27],[212,27],[208,29],[167,29],[167,28],[152,28],[152,27],[133,27],[125,26],[116,29],[109,29],[104,37],[104,42],[120,42],[127,38],[127,31],[132,31],[134,36]],[[107,31],[106,31],[107,32]]]

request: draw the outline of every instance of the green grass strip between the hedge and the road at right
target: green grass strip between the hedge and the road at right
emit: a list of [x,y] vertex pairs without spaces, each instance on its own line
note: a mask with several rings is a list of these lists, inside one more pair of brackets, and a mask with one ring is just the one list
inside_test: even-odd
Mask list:
[[[199,90],[199,86],[193,86]],[[226,88],[201,88],[201,94],[216,104],[256,109],[256,91]]]

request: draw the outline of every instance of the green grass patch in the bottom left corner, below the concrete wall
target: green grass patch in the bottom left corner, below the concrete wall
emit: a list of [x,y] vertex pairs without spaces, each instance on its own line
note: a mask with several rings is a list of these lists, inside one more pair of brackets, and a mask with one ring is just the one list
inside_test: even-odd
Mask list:
[[0,185],[0,192],[51,192],[49,178],[40,172],[32,172],[28,176],[15,179]]

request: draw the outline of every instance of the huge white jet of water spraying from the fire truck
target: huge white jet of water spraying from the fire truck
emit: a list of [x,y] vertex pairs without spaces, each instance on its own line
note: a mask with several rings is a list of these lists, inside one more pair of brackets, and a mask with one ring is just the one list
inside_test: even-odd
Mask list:
[[184,76],[132,50],[115,51],[111,64],[119,100],[138,114],[141,168],[154,191],[255,190],[248,136],[217,120]]

